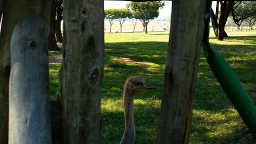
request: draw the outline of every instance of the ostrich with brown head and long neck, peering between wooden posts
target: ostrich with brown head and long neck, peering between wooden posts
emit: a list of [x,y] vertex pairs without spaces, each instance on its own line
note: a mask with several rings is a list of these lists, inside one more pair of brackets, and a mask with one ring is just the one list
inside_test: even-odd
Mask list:
[[156,87],[147,84],[138,76],[130,76],[124,82],[122,98],[125,127],[120,144],[134,143],[135,124],[133,119],[133,98],[136,92],[145,89],[156,89]]

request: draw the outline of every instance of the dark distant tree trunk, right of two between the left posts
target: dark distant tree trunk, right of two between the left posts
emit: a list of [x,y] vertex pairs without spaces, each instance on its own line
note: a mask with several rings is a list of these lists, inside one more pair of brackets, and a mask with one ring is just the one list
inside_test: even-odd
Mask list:
[[62,33],[60,28],[61,20],[63,19],[63,0],[56,0],[56,20],[55,20],[55,32],[56,32],[56,41],[62,43]]

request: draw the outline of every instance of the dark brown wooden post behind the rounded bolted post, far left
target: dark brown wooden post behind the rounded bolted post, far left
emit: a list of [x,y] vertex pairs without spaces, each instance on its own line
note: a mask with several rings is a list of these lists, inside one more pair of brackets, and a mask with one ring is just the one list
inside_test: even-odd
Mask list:
[[[49,23],[50,5],[51,0],[12,0],[6,2],[0,0],[0,12],[3,11],[4,13],[0,36],[0,143],[8,143],[9,50],[12,30],[20,18],[27,15],[40,15],[44,17],[46,23]],[[36,7],[36,10],[34,10],[34,7]]]

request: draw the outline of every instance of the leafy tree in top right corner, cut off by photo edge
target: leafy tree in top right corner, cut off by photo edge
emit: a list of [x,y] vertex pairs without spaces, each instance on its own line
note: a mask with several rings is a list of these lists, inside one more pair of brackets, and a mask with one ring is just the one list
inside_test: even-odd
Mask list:
[[239,29],[241,23],[254,14],[256,14],[256,1],[235,1],[230,15]]

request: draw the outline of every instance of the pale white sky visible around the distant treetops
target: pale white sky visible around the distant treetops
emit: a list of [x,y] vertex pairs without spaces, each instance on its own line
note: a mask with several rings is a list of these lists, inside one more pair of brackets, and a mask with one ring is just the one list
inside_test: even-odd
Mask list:
[[[109,8],[126,8],[125,4],[130,1],[122,1],[122,0],[104,0],[104,9]],[[212,9],[215,11],[216,1],[212,2]],[[171,14],[171,1],[165,0],[165,5],[162,9],[159,9],[159,16],[168,16]]]

